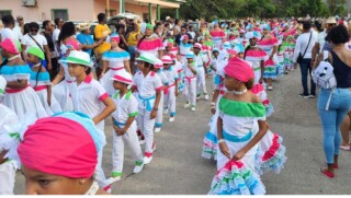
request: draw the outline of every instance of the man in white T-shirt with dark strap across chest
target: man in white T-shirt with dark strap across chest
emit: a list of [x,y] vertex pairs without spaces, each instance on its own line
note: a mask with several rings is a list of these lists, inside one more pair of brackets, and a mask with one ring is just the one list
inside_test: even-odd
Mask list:
[[[26,54],[25,49],[30,47],[38,47],[42,49],[42,51],[45,54],[45,60],[47,70],[52,70],[52,55],[50,49],[47,46],[46,38],[38,34],[39,25],[35,22],[30,23],[30,33],[23,36],[23,39],[21,40],[22,44],[22,57],[24,60],[26,60]],[[44,63],[45,65],[45,63]]]

